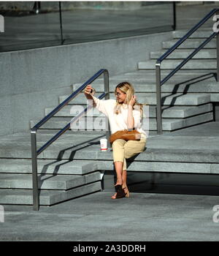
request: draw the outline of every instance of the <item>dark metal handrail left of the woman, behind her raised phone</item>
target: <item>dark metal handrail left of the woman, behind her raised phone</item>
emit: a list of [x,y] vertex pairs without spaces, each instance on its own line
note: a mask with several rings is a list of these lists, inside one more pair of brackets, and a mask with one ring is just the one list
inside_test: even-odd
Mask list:
[[[105,97],[105,99],[110,99],[110,89],[109,89],[109,72],[107,69],[100,69],[99,72],[96,72],[93,77],[88,79],[85,83],[80,86],[79,89],[74,91],[69,97],[67,97],[61,104],[58,105],[54,110],[52,110],[50,113],[45,116],[45,118],[42,118],[41,121],[39,121],[33,128],[31,128],[31,159],[32,159],[32,182],[33,182],[33,208],[34,211],[39,210],[39,187],[38,187],[38,173],[37,173],[37,156],[42,153],[42,151],[45,151],[45,149],[50,146],[55,140],[57,140],[64,132],[66,132],[67,129],[76,122],[81,116],[83,116],[84,113],[86,113],[90,108],[85,108],[79,115],[72,118],[72,121],[69,122],[63,129],[61,129],[59,132],[57,132],[53,138],[47,141],[41,148],[37,150],[37,129],[42,127],[45,122],[47,122],[50,118],[52,118],[55,113],[58,113],[59,110],[64,108],[65,105],[67,105],[72,99],[77,97],[80,92],[85,89],[88,84],[93,83],[96,78],[99,78],[100,75],[104,74],[104,93],[99,96],[99,99],[102,99]],[[106,118],[107,119],[107,118]],[[110,138],[110,129],[109,129],[109,122],[106,120],[106,136],[107,140],[109,141]]]

